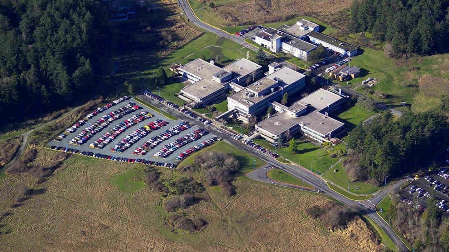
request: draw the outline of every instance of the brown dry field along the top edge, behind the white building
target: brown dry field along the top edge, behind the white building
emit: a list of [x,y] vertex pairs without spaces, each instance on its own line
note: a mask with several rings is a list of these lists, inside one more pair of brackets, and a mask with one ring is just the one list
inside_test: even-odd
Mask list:
[[[211,8],[210,2],[214,3],[216,7]],[[249,24],[278,27],[280,26],[278,24],[292,24],[298,18],[306,18],[324,27],[328,27],[326,23],[341,25],[344,24],[346,17],[343,10],[349,8],[352,0],[320,2],[310,0],[210,0],[201,2],[189,0],[189,3],[202,21],[222,27],[226,31],[229,28],[229,32],[233,33]],[[329,28],[326,32],[336,31]]]

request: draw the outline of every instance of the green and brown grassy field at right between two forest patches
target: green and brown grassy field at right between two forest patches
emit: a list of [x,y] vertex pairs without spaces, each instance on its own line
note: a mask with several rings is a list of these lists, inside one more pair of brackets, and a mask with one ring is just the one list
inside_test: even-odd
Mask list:
[[[389,95],[380,101],[394,106],[405,101],[411,104],[413,112],[431,112],[438,109],[441,93],[449,91],[445,80],[449,76],[448,63],[448,54],[414,57],[396,63],[382,51],[363,48],[363,53],[351,61],[351,65],[362,68],[361,77],[352,80],[350,86],[363,93],[361,81],[376,78],[379,83],[372,89]],[[375,94],[372,97],[377,98]]]

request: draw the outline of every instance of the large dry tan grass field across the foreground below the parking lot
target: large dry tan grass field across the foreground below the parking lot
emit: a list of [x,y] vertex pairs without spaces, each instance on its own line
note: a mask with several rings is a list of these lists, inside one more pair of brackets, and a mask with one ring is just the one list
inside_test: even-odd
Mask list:
[[[34,164],[45,165],[54,154],[42,149]],[[142,176],[134,170],[141,168],[74,155],[41,184],[29,174],[6,176],[0,181],[0,251],[358,252],[382,246],[358,217],[347,229],[332,231],[304,213],[312,204],[325,204],[325,197],[243,177],[234,182],[236,196],[206,187],[200,203],[176,212],[207,220],[201,231],[172,231],[161,193],[141,187]],[[130,171],[133,176],[117,179]],[[160,171],[163,178],[184,175]],[[201,181],[200,174],[194,177]],[[13,208],[21,183],[33,190]]]

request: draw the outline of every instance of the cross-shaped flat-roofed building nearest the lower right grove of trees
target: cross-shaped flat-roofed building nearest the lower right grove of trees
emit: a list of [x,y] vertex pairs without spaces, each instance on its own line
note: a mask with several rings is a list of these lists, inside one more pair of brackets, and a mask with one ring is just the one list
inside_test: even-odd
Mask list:
[[320,143],[336,142],[333,137],[341,132],[344,124],[328,113],[339,108],[347,97],[341,91],[320,88],[288,108],[273,102],[277,113],[258,123],[255,130],[271,143],[276,143],[280,135],[291,137],[297,132]]

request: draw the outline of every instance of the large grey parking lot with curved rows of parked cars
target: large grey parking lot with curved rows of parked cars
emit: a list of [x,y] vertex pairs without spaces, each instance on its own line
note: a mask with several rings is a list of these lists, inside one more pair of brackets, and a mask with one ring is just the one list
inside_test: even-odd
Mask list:
[[[118,112],[119,108],[132,103],[132,106],[138,106],[139,109],[136,109],[135,111],[128,113],[124,115],[121,118],[118,118],[112,122],[110,122],[107,125],[104,125],[104,127],[98,132],[94,132],[95,134],[90,134],[90,138],[85,141],[82,144],[76,145],[71,144],[70,140],[74,139],[75,136],[79,134],[83,134],[82,132],[86,132],[86,128],[95,128],[94,126],[101,122],[98,120],[101,120],[107,114],[110,113],[116,113]],[[135,105],[134,105],[135,104]],[[143,116],[146,116],[146,119],[143,118]],[[128,120],[132,118],[132,120]],[[137,119],[141,122],[136,121]],[[131,122],[132,121],[132,122]],[[129,122],[129,123],[128,123]],[[160,123],[160,126],[155,126],[154,128],[150,128],[148,125],[154,123],[154,122],[164,122]],[[104,122],[103,122],[104,123]],[[156,123],[157,124],[157,123]],[[126,126],[125,126],[126,125]],[[184,125],[184,126],[183,126]],[[117,127],[119,126],[119,127]],[[146,126],[146,128],[145,128]],[[182,126],[182,128],[181,128]],[[122,131],[117,131],[118,128],[121,128]],[[147,129],[148,128],[148,129]],[[182,130],[180,130],[182,129]],[[199,137],[198,139],[191,141],[182,147],[176,149],[170,156],[167,156],[167,158],[163,157],[154,157],[153,155],[158,152],[161,148],[163,148],[164,145],[169,144],[173,142],[176,139],[180,139],[181,137],[184,137],[185,135],[193,133],[195,130],[198,130],[199,127],[197,125],[190,125],[187,122],[183,122],[182,120],[171,120],[167,117],[164,117],[163,115],[157,113],[153,109],[150,109],[146,107],[144,104],[139,103],[136,100],[123,100],[117,104],[113,104],[110,107],[107,107],[105,110],[101,111],[100,113],[97,113],[93,117],[87,120],[87,122],[84,122],[84,125],[79,126],[76,128],[75,131],[69,133],[67,131],[62,132],[63,134],[68,134],[64,138],[58,138],[59,141],[52,140],[48,143],[48,147],[51,146],[57,146],[57,147],[63,147],[63,148],[71,148],[78,150],[79,153],[81,152],[93,152],[100,155],[107,155],[107,156],[115,156],[120,158],[128,158],[128,159],[145,159],[145,160],[152,160],[152,161],[158,161],[158,162],[169,162],[169,163],[176,163],[175,160],[176,156],[179,156],[182,152],[187,151],[190,148],[193,148],[194,146],[198,145],[198,143],[202,143],[208,139],[213,138],[214,136],[211,134],[204,135],[202,137]],[[145,130],[145,131],[142,131]],[[167,131],[168,130],[168,131]],[[170,131],[172,130],[172,131]],[[108,133],[109,132],[109,133]],[[108,135],[105,135],[108,133]],[[98,140],[101,139],[107,139],[104,136],[110,136],[110,134],[119,133],[118,135],[114,135],[115,138],[111,140],[109,143],[104,144],[102,148],[96,146],[96,148],[89,148],[89,145],[91,147],[93,146],[92,143],[95,141],[98,142]],[[139,133],[139,135],[137,135]],[[170,134],[168,134],[170,133]],[[111,148],[119,146],[124,146],[120,144],[120,142],[125,139],[127,136],[130,136],[130,139],[134,139],[134,143],[130,143],[129,141],[126,143],[129,146],[122,151],[111,151]],[[154,148],[146,148],[147,151],[144,155],[135,155],[136,149],[141,148],[142,145],[147,142],[149,139],[154,138],[155,136],[162,136],[165,135],[163,138],[159,139],[159,143],[154,146]],[[136,137],[137,136],[137,137]],[[108,139],[109,140],[109,139]],[[71,142],[74,142],[73,140]],[[76,143],[76,142],[75,142]],[[105,141],[102,141],[102,143],[105,143]],[[133,153],[134,152],[134,153]],[[133,155],[134,154],[134,155]]]

